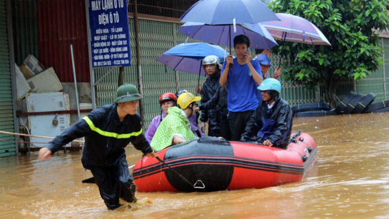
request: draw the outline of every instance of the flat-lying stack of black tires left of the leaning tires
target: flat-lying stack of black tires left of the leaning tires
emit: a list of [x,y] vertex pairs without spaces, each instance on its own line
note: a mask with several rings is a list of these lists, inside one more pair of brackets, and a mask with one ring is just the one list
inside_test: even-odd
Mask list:
[[294,117],[318,117],[336,115],[335,110],[331,110],[331,107],[327,103],[314,102],[303,103],[292,107]]

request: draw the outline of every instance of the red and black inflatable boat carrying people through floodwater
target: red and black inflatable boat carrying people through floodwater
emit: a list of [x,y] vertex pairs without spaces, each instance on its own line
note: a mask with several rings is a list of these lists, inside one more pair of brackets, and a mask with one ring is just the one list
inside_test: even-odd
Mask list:
[[139,191],[210,192],[265,188],[301,181],[317,147],[306,133],[292,133],[287,149],[203,136],[143,157],[132,172]]

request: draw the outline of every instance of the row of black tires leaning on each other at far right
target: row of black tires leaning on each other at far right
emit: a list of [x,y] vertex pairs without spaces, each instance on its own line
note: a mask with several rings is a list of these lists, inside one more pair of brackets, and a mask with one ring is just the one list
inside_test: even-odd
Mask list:
[[369,93],[363,95],[362,93],[355,93],[351,91],[337,106],[337,114],[355,114],[355,113],[375,113],[375,112],[389,112],[389,99],[375,104],[371,104],[376,95]]

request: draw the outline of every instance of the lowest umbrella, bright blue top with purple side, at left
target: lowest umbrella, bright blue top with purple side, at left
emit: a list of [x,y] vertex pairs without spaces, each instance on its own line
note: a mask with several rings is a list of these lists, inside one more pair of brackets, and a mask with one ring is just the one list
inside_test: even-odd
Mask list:
[[200,79],[200,75],[206,75],[201,67],[201,62],[207,55],[216,55],[219,58],[224,58],[230,54],[220,46],[208,43],[181,43],[164,52],[156,60],[169,66],[174,71],[199,74]]

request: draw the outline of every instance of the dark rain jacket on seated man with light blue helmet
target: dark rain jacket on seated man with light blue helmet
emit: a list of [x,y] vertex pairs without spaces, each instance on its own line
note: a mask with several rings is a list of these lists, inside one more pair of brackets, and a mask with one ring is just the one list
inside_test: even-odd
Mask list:
[[290,142],[292,115],[289,104],[279,95],[271,109],[267,109],[267,102],[262,101],[250,117],[241,141],[262,144],[268,139],[274,147],[286,148]]

